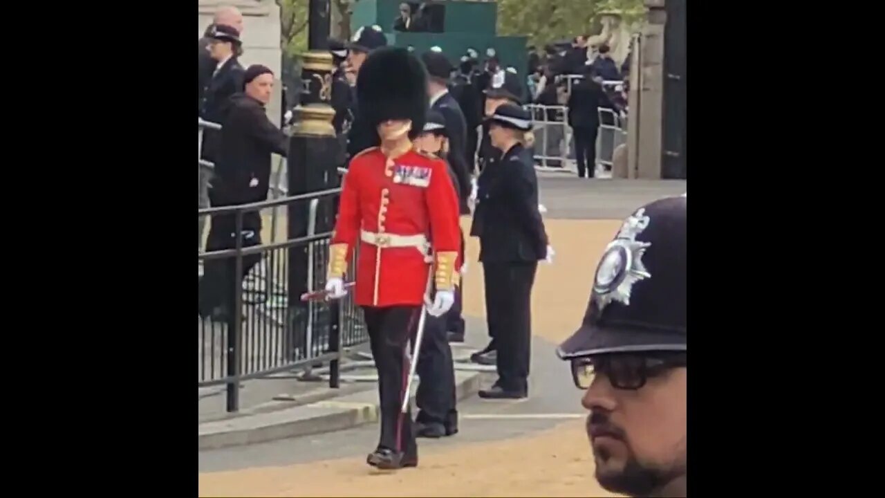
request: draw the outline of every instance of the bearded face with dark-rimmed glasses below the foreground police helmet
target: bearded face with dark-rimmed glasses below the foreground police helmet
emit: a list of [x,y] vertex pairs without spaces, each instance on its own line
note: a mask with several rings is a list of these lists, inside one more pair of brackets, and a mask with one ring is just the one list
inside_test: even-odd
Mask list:
[[[596,480],[605,489],[647,495],[687,473],[685,367],[658,368],[641,357],[608,355],[595,363],[581,404],[590,410],[587,433],[596,460]],[[623,378],[646,369],[645,385],[623,387]],[[627,375],[625,376],[625,373]],[[634,376],[635,377],[635,376]],[[617,380],[620,378],[620,384]]]

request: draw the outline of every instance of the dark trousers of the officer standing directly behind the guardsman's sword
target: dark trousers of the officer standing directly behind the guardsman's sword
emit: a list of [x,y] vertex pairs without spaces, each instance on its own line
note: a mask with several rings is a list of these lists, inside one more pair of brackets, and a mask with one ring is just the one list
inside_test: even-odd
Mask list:
[[419,409],[415,420],[424,424],[443,424],[449,430],[458,428],[455,366],[451,360],[445,316],[427,315],[416,370],[421,382],[415,399]]

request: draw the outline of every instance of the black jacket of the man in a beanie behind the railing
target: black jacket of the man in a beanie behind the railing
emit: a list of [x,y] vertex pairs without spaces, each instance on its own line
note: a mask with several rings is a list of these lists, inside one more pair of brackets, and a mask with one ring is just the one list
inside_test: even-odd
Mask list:
[[271,152],[288,155],[289,138],[273,126],[264,105],[242,93],[230,98],[221,126],[210,191],[212,206],[265,200],[270,188]]

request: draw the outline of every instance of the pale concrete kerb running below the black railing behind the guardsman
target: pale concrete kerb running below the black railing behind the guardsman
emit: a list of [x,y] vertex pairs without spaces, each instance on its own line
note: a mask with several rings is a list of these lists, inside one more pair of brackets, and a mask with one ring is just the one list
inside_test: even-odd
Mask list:
[[[484,375],[489,374],[456,371],[455,389],[458,400],[477,393]],[[379,414],[377,390],[351,393],[289,409],[199,424],[198,449],[241,446],[341,431],[377,422]]]

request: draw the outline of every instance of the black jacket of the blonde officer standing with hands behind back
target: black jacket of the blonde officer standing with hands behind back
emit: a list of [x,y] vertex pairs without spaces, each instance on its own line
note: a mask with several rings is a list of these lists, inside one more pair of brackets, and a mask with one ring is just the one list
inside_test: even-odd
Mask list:
[[482,170],[470,235],[480,237],[480,261],[531,262],[547,256],[547,232],[538,211],[538,177],[531,152],[514,145]]

